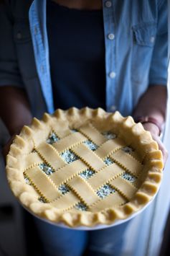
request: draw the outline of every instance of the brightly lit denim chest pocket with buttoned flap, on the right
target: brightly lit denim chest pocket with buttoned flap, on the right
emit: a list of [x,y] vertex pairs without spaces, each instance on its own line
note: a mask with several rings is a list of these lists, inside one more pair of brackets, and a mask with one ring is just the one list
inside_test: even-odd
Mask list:
[[136,84],[148,82],[151,58],[156,40],[156,22],[143,22],[132,27],[131,78]]

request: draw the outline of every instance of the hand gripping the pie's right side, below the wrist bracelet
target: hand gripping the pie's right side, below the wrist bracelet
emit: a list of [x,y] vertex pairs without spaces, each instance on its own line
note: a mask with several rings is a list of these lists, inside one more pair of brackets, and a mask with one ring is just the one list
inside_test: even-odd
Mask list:
[[163,154],[163,160],[164,160],[164,166],[165,166],[166,160],[168,158],[168,151],[166,150],[164,144],[162,143],[159,137],[159,128],[156,125],[154,125],[154,123],[143,123],[143,127],[145,128],[146,131],[150,131],[152,138],[159,145],[159,149]]

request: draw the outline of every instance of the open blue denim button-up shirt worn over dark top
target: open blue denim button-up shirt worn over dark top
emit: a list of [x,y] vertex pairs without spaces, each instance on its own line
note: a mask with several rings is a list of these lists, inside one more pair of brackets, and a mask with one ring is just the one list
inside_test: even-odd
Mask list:
[[[7,2],[0,6],[0,85],[24,88],[33,115],[52,113],[46,0]],[[148,86],[166,86],[167,3],[103,0],[103,24],[106,108],[131,115]]]

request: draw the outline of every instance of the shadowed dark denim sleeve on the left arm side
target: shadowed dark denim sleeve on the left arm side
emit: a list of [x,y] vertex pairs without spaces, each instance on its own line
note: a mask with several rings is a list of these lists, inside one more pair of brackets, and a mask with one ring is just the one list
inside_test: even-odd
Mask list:
[[9,6],[0,4],[0,86],[24,87],[17,63]]

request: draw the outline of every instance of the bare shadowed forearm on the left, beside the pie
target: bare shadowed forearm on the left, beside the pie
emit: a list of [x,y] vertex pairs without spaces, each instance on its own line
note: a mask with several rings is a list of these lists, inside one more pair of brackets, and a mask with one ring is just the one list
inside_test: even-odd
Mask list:
[[24,90],[16,87],[0,87],[0,117],[9,133],[19,133],[23,125],[29,125],[32,113]]

